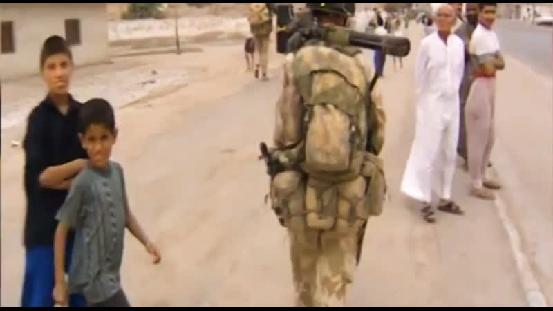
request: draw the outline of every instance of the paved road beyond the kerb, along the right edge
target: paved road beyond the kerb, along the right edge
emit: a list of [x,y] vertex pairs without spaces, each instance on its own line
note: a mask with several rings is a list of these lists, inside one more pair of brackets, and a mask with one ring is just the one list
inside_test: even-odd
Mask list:
[[509,20],[499,21],[496,29],[505,53],[519,62],[507,62],[498,78],[492,158],[505,182],[502,192],[521,232],[523,248],[551,304],[553,30]]

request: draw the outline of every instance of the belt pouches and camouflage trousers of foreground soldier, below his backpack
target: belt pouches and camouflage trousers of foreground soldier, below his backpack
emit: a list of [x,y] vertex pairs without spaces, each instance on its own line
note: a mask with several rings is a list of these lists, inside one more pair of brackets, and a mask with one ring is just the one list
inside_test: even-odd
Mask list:
[[382,213],[384,193],[382,160],[372,155],[346,182],[323,182],[301,171],[274,176],[271,206],[290,234],[297,305],[344,305],[366,222]]

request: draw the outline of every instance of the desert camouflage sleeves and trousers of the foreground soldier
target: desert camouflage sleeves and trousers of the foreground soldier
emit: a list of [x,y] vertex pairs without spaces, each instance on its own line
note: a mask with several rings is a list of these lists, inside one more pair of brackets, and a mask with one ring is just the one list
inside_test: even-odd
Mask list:
[[[301,126],[297,124],[301,124],[303,116],[299,109],[294,108],[302,106],[301,96],[299,95],[301,92],[294,83],[292,73],[294,57],[294,54],[291,53],[286,57],[283,89],[277,102],[274,146],[277,151],[280,150],[283,154],[285,154],[286,149],[294,146],[294,144],[297,144],[297,140],[301,139]],[[365,73],[364,79],[368,83],[373,77],[373,70],[366,64],[363,53],[355,55],[354,59],[355,64],[362,69],[359,72]],[[384,124],[386,122],[378,84],[375,84],[371,92],[371,99],[373,104],[366,111],[369,115],[366,124],[368,131],[366,132],[369,136],[368,141],[372,144],[370,148],[373,150],[372,153],[378,155],[382,149],[382,144],[384,144]],[[295,113],[283,113],[283,111],[295,111]],[[382,162],[378,166],[379,169],[382,169]],[[330,229],[312,229],[307,225],[309,220],[306,221],[306,218],[309,215],[306,214],[309,214],[309,210],[305,203],[307,202],[306,198],[315,196],[315,194],[310,194],[308,187],[310,182],[311,179],[308,179],[301,170],[288,171],[280,176],[277,175],[277,178],[272,180],[271,186],[272,204],[275,205],[275,201],[277,201],[278,205],[280,201],[284,205],[288,205],[288,216],[284,216],[288,220],[282,218],[280,220],[288,228],[290,236],[290,259],[292,261],[296,294],[295,303],[297,306],[344,306],[347,289],[353,281],[353,272],[357,264],[356,261],[359,259],[360,247],[362,246],[360,244],[364,236],[366,221],[369,215],[378,215],[379,211],[375,213],[372,211],[366,212],[364,219],[356,218],[350,223],[348,223],[348,220],[344,220],[348,216],[346,218],[336,216],[341,213],[344,214],[343,205],[347,207],[348,213],[349,209],[359,209],[359,205],[362,204],[362,202],[358,202],[360,200],[367,200],[367,202],[373,200],[377,202],[374,204],[375,208],[382,209],[379,202],[384,199],[384,189],[376,191],[382,192],[382,197],[341,200],[341,198],[347,197],[344,192],[348,191],[344,189],[347,189],[348,185],[359,182],[359,180],[355,179],[350,182],[328,185],[328,189],[337,188],[339,197],[337,202],[330,203],[337,205],[335,211],[338,215],[333,216],[335,225],[332,225]],[[362,185],[366,185],[364,179],[362,182]],[[292,187],[289,185],[292,185]],[[383,185],[376,185],[375,187],[379,186],[385,187]],[[361,187],[366,188],[365,186]],[[295,190],[299,188],[304,190]],[[283,198],[278,198],[279,196]],[[324,191],[316,194],[316,196],[321,198],[321,205],[326,204],[324,202],[326,196]]]

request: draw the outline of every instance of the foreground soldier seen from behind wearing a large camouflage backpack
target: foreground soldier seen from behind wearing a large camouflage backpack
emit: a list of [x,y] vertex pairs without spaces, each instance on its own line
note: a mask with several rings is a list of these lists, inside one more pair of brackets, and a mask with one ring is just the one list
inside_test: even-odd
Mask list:
[[[344,3],[310,3],[323,27]],[[361,50],[309,39],[286,56],[274,149],[262,148],[272,209],[290,236],[297,306],[344,306],[367,220],[382,212],[385,115]],[[264,145],[262,145],[264,147]]]

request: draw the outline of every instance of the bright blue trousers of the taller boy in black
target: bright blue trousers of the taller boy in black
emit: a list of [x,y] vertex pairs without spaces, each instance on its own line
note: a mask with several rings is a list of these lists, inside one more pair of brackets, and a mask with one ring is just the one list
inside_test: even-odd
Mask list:
[[[71,263],[72,246],[68,243],[66,249],[66,272]],[[26,249],[21,307],[53,307],[54,286],[54,247],[38,246]],[[69,306],[86,307],[86,299],[79,294],[71,295]]]

